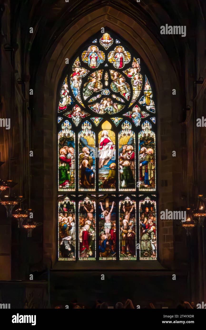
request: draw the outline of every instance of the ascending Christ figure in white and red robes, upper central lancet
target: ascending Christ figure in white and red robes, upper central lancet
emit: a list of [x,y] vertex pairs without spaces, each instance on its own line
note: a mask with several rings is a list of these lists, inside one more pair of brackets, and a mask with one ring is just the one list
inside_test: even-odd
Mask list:
[[113,157],[113,153],[115,149],[113,142],[108,136],[108,132],[105,130],[102,131],[102,137],[100,140],[99,149],[100,149],[99,168],[102,168]]

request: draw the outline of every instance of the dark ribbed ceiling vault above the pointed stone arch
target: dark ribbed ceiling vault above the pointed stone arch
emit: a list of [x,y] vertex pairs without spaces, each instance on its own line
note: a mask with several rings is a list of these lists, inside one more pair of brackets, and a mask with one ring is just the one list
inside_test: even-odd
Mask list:
[[[181,72],[181,62],[185,48],[193,47],[195,43],[195,25],[197,12],[205,17],[205,4],[200,0],[165,1],[165,0],[12,0],[11,14],[13,28],[21,26],[21,43],[26,53],[30,52],[33,71],[43,61],[47,52],[55,47],[58,38],[68,30],[72,24],[89,13],[107,7],[120,10],[128,18],[133,17],[144,29],[157,39],[174,63],[175,71]],[[114,18],[115,20],[115,18]],[[85,22],[86,24],[86,22]],[[160,35],[161,25],[186,25],[187,34],[181,36]],[[33,34],[27,33],[33,27]],[[15,30],[15,29],[14,29]],[[16,28],[16,31],[18,29]],[[13,35],[16,43],[16,36]],[[32,58],[34,57],[34,58]],[[32,73],[32,72],[31,72]]]

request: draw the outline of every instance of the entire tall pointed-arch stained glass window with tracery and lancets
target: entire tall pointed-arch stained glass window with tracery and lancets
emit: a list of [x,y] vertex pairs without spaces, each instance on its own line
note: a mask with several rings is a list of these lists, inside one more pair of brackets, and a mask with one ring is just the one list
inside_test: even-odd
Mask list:
[[156,260],[156,98],[144,59],[108,29],[69,63],[57,103],[58,260]]

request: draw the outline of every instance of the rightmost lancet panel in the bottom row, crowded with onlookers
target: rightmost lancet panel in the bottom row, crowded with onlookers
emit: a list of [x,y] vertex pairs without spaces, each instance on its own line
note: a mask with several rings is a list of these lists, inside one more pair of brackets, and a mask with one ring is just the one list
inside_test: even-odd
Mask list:
[[140,260],[157,259],[156,202],[145,197],[139,203]]

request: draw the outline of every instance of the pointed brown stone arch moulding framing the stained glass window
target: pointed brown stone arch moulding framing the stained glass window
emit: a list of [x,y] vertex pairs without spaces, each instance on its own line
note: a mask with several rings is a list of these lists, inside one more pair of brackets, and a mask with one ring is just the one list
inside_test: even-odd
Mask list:
[[[167,56],[165,50],[162,48],[160,43],[154,38],[151,32],[140,25],[132,17],[127,16],[123,12],[119,12],[114,8],[106,6],[98,9],[92,13],[85,14],[84,17],[74,19],[72,24],[69,25],[60,37],[54,42],[52,48],[47,53],[42,65],[39,66],[36,78],[36,99],[34,99],[34,105],[42,116],[42,125],[47,127],[44,131],[44,146],[47,145],[45,141],[50,139],[51,146],[49,150],[44,147],[43,159],[44,161],[49,159],[50,162],[46,168],[49,173],[50,180],[48,182],[48,176],[44,179],[44,200],[43,200],[43,218],[44,218],[44,233],[43,233],[43,257],[44,262],[54,266],[56,263],[57,256],[57,191],[56,191],[56,180],[57,180],[57,139],[56,139],[56,105],[58,86],[61,84],[62,72],[65,69],[65,58],[71,58],[79,46],[86,41],[90,36],[93,36],[97,31],[101,30],[101,27],[108,26],[111,30],[120,34],[122,38],[126,39],[135,50],[144,59],[144,62],[150,72],[156,89],[157,99],[157,113],[159,130],[157,134],[158,154],[157,158],[160,159],[161,150],[163,148],[160,141],[160,122],[164,124],[166,120],[164,107],[167,107],[167,116],[172,114],[172,109],[179,111],[179,108],[174,107],[172,99],[169,93],[165,95],[162,86],[167,84],[167,89],[172,90],[172,86],[179,85],[177,77],[175,75],[174,68]],[[175,102],[175,101],[174,101]],[[174,110],[173,110],[174,116]],[[48,123],[50,130],[48,130]],[[157,124],[158,124],[157,123]],[[172,141],[172,129],[168,132],[169,139]],[[53,162],[51,162],[51,157]],[[49,166],[49,168],[48,168]],[[161,162],[158,162],[158,172],[162,173],[163,168]],[[44,165],[45,168],[45,165]],[[171,185],[172,185],[172,164],[169,169],[171,173]],[[55,183],[54,183],[55,182]],[[159,187],[159,205],[161,201],[161,187]],[[173,201],[172,189],[170,189],[170,195],[167,195],[170,201]],[[159,259],[163,264],[171,264],[173,260],[173,248],[170,253],[164,253],[163,248],[163,235],[162,226],[159,221]]]

